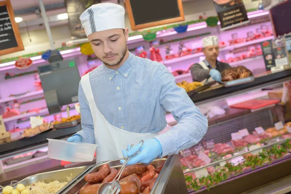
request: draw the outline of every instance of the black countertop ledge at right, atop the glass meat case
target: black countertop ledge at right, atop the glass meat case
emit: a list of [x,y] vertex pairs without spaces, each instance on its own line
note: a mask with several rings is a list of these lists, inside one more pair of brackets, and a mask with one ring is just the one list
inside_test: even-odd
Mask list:
[[[237,85],[234,87],[221,87],[213,90],[198,93],[190,96],[192,101],[196,104],[204,104],[213,102],[215,100],[226,99],[227,97],[237,96],[246,92],[251,92],[260,88],[270,87],[283,81],[291,80],[291,69],[286,69],[276,73],[269,73],[265,76],[257,77],[255,81]],[[231,94],[231,95],[230,95]]]

